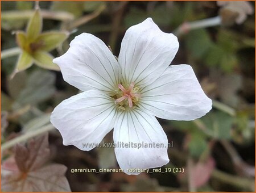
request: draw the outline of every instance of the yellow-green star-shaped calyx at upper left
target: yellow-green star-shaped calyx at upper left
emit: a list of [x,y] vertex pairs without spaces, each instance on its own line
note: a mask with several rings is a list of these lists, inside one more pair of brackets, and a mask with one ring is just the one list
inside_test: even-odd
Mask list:
[[40,14],[40,10],[36,9],[27,24],[26,32],[15,32],[16,42],[21,49],[21,53],[14,74],[30,68],[34,63],[42,68],[59,70],[59,66],[52,62],[53,56],[48,52],[63,43],[69,36],[69,32],[42,32],[42,27],[42,15]]

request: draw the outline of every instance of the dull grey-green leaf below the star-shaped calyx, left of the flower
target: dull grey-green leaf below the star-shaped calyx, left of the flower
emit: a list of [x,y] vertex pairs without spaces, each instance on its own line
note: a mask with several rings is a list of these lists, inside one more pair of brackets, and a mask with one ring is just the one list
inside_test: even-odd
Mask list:
[[54,73],[44,70],[32,72],[26,81],[26,87],[16,99],[15,106],[34,105],[50,98],[55,93],[54,83]]

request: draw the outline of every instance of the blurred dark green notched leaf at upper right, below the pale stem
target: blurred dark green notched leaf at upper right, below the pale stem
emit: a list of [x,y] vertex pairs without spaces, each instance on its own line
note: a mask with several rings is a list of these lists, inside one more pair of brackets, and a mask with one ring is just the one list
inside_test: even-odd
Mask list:
[[192,56],[205,65],[232,72],[238,65],[237,51],[241,46],[236,39],[230,40],[230,36],[233,33],[219,30],[217,40],[213,41],[207,30],[194,30],[188,33],[186,45]]

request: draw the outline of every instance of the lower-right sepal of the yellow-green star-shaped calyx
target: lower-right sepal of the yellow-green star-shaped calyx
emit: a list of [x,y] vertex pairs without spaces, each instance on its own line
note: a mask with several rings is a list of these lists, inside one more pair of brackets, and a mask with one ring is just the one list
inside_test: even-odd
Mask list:
[[53,56],[47,52],[38,51],[35,54],[33,54],[33,57],[35,60],[35,64],[40,66],[41,68],[57,71],[60,70],[59,66],[52,62]]

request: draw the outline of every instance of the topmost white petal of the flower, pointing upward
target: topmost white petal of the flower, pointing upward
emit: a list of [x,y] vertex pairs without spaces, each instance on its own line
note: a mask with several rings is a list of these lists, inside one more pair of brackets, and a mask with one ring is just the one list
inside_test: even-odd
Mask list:
[[123,82],[142,86],[155,81],[170,65],[178,48],[177,37],[162,32],[151,18],[130,27],[118,57],[125,76]]

